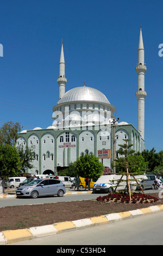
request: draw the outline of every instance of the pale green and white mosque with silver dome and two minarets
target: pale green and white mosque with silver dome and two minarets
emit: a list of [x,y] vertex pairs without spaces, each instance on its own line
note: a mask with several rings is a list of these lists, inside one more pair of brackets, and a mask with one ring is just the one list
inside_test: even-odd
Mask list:
[[[65,92],[64,48],[61,44],[59,62],[59,100],[53,107],[53,124],[46,129],[35,127],[18,133],[17,145],[34,150],[33,174],[54,174],[66,168],[80,155],[95,154],[98,150],[108,150],[106,158],[101,159],[105,167],[111,169],[113,156],[123,144],[124,138],[130,139],[133,149],[145,149],[145,50],[140,29],[137,72],[137,129],[125,121],[118,123],[114,116],[116,108],[99,90],[87,87],[84,83]],[[115,143],[115,147],[114,147]]]

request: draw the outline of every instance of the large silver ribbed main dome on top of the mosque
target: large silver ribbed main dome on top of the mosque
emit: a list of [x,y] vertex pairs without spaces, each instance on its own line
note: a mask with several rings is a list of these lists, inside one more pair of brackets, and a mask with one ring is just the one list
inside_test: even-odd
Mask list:
[[106,96],[99,90],[87,86],[76,87],[68,90],[58,101],[58,104],[72,101],[95,101],[110,104]]

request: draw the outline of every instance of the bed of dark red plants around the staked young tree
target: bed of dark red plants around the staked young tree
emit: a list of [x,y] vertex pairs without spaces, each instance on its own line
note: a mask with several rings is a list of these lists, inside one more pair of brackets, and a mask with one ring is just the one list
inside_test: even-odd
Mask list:
[[133,193],[131,195],[131,201],[130,201],[129,194],[127,193],[110,193],[107,196],[97,197],[96,200],[98,202],[107,202],[107,203],[133,203],[133,204],[151,203],[152,204],[157,202],[159,199],[147,194]]

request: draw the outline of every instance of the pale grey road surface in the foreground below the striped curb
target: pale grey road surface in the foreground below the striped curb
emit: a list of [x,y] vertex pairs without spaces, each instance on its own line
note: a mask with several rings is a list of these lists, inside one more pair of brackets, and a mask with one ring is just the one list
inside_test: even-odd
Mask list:
[[[67,231],[65,233],[40,237],[33,240],[12,243],[12,245],[163,245],[163,212],[143,215],[128,220],[98,225],[91,228]],[[57,245],[57,246],[56,246]],[[71,247],[68,247],[71,248]]]

